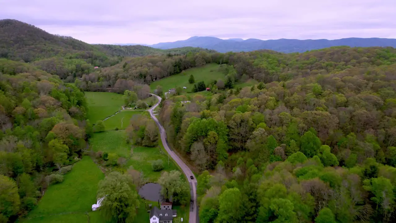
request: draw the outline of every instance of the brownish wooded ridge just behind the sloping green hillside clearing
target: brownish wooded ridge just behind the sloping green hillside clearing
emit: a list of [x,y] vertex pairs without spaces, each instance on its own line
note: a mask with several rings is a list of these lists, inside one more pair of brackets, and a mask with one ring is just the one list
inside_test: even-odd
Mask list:
[[150,84],[155,80],[181,73],[190,67],[211,62],[213,54],[188,52],[187,55],[162,55],[125,58],[122,62],[101,69],[99,72],[83,75],[75,81],[84,90],[105,91],[107,88],[124,92],[136,84]]

